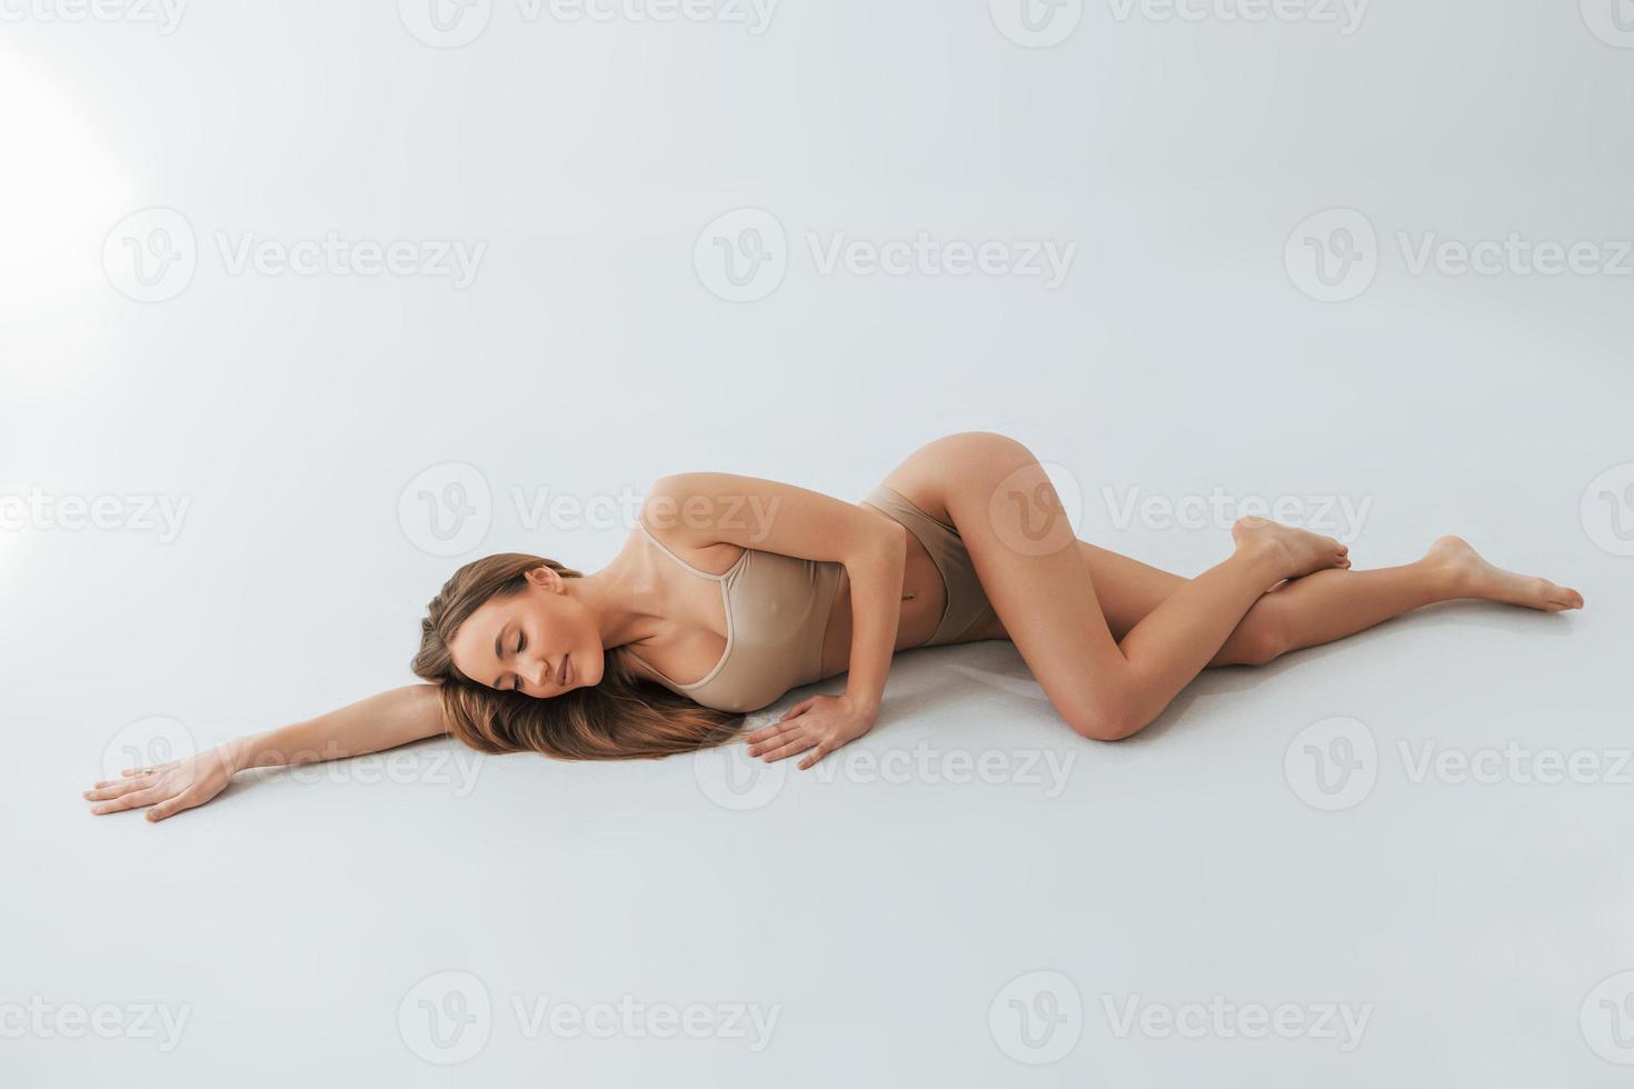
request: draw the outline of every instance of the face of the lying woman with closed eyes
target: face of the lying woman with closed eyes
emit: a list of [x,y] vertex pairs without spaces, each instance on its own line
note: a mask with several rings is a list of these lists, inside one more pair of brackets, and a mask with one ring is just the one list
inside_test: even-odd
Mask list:
[[565,581],[536,567],[521,593],[482,602],[448,645],[454,668],[477,684],[534,699],[600,682],[601,633]]

